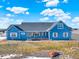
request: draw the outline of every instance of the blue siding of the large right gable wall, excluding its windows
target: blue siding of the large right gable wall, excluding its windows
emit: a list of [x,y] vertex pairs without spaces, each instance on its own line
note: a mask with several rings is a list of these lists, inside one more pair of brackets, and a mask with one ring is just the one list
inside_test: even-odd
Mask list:
[[[60,22],[59,22],[60,23]],[[69,40],[69,39],[71,39],[71,29],[68,27],[68,26],[66,26],[63,22],[61,22],[63,25],[64,25],[64,27],[63,27],[63,29],[58,29],[57,28],[57,24],[55,25],[55,27],[53,27],[50,31],[49,31],[49,39],[50,40]],[[53,37],[53,33],[54,32],[56,32],[56,33],[58,33],[58,37]],[[68,32],[68,37],[63,37],[63,33],[64,32]]]

